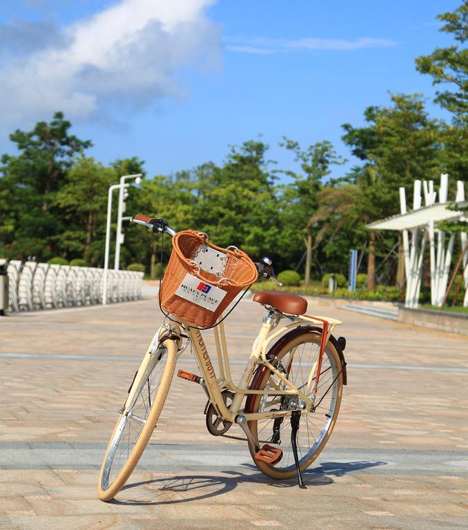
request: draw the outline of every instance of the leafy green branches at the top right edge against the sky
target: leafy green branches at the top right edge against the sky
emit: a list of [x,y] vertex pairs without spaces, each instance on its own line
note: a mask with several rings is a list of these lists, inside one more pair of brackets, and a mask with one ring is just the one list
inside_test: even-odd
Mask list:
[[433,85],[450,86],[447,90],[438,90],[435,101],[454,114],[456,124],[467,126],[468,49],[463,45],[468,39],[468,3],[464,1],[456,10],[439,14],[437,18],[446,22],[440,31],[451,33],[458,43],[418,57],[416,69],[431,75]]

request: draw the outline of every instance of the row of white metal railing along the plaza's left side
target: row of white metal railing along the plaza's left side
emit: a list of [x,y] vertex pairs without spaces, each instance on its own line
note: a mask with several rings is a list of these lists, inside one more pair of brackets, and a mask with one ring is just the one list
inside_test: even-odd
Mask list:
[[[49,265],[17,259],[8,262],[10,312],[101,304],[104,269]],[[126,302],[142,297],[143,273],[108,271],[107,301]]]

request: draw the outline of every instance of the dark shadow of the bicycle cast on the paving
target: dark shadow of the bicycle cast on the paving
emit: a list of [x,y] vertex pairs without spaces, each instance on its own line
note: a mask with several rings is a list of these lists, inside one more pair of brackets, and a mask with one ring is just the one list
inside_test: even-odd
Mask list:
[[[376,460],[358,460],[357,462],[322,462],[319,467],[307,469],[304,482],[307,487],[325,486],[335,482],[333,478],[341,477],[353,471],[370,467],[384,466],[387,462]],[[246,467],[256,469],[253,464]],[[241,471],[221,471],[222,477],[206,475],[175,475],[173,477],[155,478],[142,482],[126,484],[120,495],[131,493],[133,498],[113,499],[110,504],[124,506],[161,506],[164,504],[182,504],[225,495],[238,485],[262,484],[273,488],[298,487],[296,478],[289,480],[272,480],[263,473],[248,474]],[[139,487],[144,489],[138,489]],[[149,491],[148,491],[149,490]],[[137,498],[135,498],[137,495]]]

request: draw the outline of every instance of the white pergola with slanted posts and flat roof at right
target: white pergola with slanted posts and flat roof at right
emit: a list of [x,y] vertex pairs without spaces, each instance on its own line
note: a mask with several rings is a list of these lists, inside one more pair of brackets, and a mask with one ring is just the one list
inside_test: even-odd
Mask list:
[[[449,210],[447,206],[460,204],[467,206],[465,202],[465,184],[457,181],[455,201],[447,201],[449,176],[447,173],[440,175],[440,188],[434,191],[432,180],[414,181],[413,188],[413,210],[407,210],[407,200],[404,188],[400,188],[400,215],[393,215],[375,223],[368,224],[371,230],[398,230],[402,233],[404,248],[404,272],[406,274],[406,297],[404,305],[407,307],[418,307],[421,288],[422,264],[426,242],[429,241],[429,261],[431,264],[431,305],[440,307],[447,291],[451,258],[454,251],[456,234],[447,234],[436,228],[441,221],[465,221],[468,222],[467,214]],[[422,206],[422,195],[425,206]],[[467,225],[468,227],[468,225]],[[411,236],[411,238],[410,238]],[[461,233],[462,248],[468,244],[468,235]],[[465,297],[463,305],[468,306],[468,252],[462,260],[465,282]]]

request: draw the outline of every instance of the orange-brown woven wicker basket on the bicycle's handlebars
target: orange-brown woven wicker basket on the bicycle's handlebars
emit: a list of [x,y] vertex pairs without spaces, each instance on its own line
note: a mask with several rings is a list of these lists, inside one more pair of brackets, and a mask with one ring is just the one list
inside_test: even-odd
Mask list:
[[[257,268],[246,253],[212,245],[207,239],[206,235],[195,230],[184,230],[173,237],[173,251],[161,286],[161,304],[164,311],[204,328],[215,324],[242,288],[253,284],[257,279]],[[193,256],[202,245],[210,246],[226,255],[222,277],[204,271],[193,262]],[[226,291],[226,295],[214,311],[175,294],[187,273],[208,284],[208,290],[209,287],[214,287]]]

